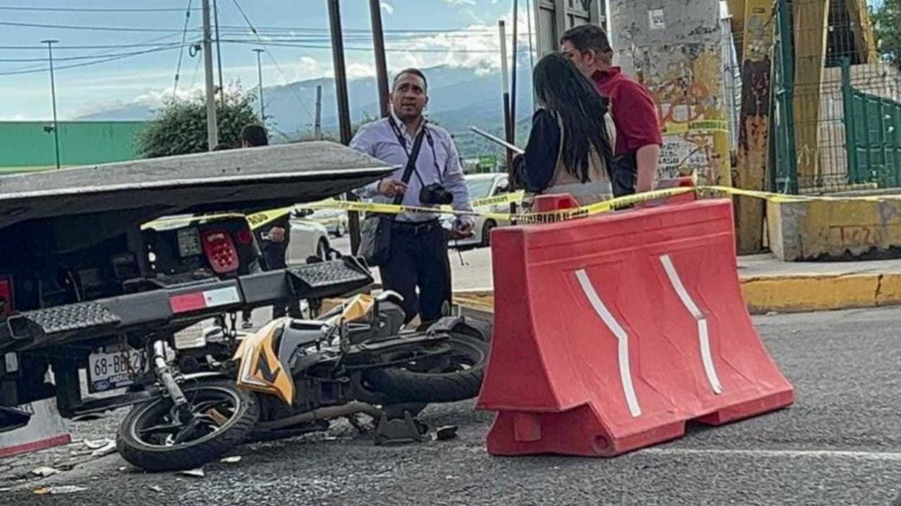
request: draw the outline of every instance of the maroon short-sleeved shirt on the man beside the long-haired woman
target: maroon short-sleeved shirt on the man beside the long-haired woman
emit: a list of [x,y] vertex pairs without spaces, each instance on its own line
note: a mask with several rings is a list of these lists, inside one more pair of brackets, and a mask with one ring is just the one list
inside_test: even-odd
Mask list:
[[619,67],[598,70],[592,78],[598,93],[610,99],[616,125],[614,156],[631,153],[642,146],[663,145],[657,106],[644,86],[626,77]]

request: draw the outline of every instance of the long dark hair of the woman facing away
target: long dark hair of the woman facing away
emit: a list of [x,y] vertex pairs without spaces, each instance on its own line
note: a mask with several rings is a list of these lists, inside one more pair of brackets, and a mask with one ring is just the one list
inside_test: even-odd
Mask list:
[[563,165],[582,183],[588,181],[588,150],[594,146],[605,160],[609,174],[613,149],[604,115],[607,99],[578,71],[569,59],[558,53],[542,58],[532,73],[539,104],[563,122]]

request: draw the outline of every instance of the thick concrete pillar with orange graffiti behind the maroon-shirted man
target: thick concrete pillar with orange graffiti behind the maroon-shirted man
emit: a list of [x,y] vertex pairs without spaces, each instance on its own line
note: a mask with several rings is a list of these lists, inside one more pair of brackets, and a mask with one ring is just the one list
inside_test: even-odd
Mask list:
[[731,185],[719,0],[611,0],[609,15],[614,64],[660,111],[660,176]]

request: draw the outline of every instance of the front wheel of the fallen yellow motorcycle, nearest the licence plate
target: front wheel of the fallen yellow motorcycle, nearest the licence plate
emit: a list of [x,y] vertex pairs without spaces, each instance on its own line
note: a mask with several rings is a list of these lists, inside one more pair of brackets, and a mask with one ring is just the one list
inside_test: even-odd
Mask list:
[[234,382],[207,380],[181,385],[193,420],[182,423],[173,402],[159,397],[138,404],[116,434],[119,454],[147,471],[194,469],[240,445],[259,420],[256,395]]

